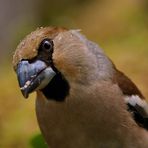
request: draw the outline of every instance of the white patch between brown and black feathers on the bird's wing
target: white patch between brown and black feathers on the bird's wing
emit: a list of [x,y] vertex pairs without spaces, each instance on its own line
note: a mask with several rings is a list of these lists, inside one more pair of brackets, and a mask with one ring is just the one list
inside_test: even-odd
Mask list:
[[141,99],[138,95],[125,96],[124,100],[139,111],[144,118],[148,118],[148,103],[145,100]]

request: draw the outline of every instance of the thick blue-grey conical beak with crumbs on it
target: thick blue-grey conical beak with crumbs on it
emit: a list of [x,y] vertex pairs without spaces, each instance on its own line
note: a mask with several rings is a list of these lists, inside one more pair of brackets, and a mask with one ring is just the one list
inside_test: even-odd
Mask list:
[[25,98],[28,98],[29,93],[44,88],[56,75],[53,69],[41,60],[33,63],[22,60],[17,66],[16,73]]

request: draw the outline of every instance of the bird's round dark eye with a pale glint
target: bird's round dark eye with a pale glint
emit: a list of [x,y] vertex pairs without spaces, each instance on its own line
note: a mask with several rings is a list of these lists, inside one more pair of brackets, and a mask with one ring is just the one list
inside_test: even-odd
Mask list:
[[40,45],[41,50],[51,51],[53,49],[53,42],[50,39],[44,39]]

